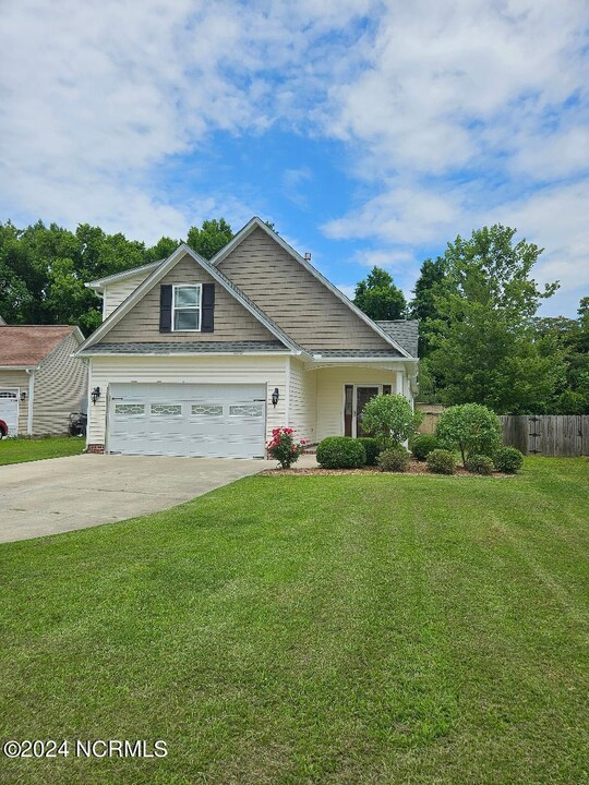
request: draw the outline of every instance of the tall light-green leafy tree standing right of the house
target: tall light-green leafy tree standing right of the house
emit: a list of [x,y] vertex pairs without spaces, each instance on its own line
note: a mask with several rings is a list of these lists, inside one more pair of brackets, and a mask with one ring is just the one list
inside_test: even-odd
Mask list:
[[444,254],[448,287],[435,295],[428,367],[446,403],[497,413],[545,411],[565,374],[557,347],[538,340],[533,317],[557,283],[530,277],[542,249],[495,225],[457,237]]

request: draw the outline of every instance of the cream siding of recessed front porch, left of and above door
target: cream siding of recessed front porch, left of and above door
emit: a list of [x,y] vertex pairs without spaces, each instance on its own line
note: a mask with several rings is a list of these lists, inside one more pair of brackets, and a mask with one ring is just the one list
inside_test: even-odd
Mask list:
[[[399,371],[402,366],[399,365]],[[317,374],[317,442],[326,436],[344,435],[344,386],[347,384],[389,384],[397,390],[397,372],[378,367],[333,367],[320,369]],[[405,371],[402,371],[405,377]]]

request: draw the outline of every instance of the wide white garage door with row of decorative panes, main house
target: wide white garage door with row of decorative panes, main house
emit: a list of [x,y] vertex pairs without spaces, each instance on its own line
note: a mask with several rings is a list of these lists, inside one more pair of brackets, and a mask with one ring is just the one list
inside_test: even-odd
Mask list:
[[107,449],[263,458],[265,401],[265,385],[111,385]]

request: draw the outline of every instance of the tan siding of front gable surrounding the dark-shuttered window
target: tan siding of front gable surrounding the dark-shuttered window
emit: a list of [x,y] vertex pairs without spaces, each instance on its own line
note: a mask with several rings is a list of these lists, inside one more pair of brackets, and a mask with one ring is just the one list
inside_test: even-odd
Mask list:
[[[215,283],[214,333],[159,331],[159,287],[166,283]],[[189,255],[183,256],[173,269],[103,337],[103,341],[112,343],[230,340],[276,340],[276,338],[232,294],[199,267]]]

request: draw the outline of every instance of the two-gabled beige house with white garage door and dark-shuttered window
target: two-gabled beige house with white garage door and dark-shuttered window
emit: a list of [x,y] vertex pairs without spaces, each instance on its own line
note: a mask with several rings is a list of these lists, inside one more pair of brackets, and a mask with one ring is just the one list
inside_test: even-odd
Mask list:
[[417,323],[374,323],[259,218],[209,262],[167,259],[88,285],[88,450],[263,457],[272,430],[361,434],[378,392],[412,400]]

